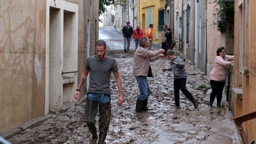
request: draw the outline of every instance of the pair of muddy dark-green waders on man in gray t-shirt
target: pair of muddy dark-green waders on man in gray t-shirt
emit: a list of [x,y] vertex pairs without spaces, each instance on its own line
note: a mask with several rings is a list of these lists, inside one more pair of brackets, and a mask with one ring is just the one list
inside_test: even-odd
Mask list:
[[99,103],[97,101],[87,98],[87,104],[85,105],[85,116],[84,119],[87,122],[87,126],[92,133],[92,137],[97,137],[97,130],[95,127],[95,117],[97,109],[99,108],[99,143],[104,143],[105,137],[107,136],[108,126],[110,124],[110,101],[107,103]]

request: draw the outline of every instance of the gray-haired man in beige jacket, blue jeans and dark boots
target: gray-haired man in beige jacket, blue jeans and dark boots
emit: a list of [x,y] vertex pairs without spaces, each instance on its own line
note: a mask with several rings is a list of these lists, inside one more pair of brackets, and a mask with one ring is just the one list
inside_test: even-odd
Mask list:
[[151,94],[147,79],[147,77],[152,77],[150,62],[157,60],[159,57],[164,57],[162,53],[165,52],[164,49],[148,50],[149,46],[149,40],[146,37],[142,37],[133,57],[133,76],[136,78],[140,91],[136,102],[136,112],[147,110],[148,96]]

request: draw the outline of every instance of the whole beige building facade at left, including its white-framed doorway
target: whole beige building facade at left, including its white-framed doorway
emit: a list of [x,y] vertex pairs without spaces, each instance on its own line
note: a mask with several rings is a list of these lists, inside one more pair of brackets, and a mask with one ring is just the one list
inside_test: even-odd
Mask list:
[[[0,132],[72,102],[98,39],[98,1],[0,1]],[[86,90],[86,88],[84,88]]]

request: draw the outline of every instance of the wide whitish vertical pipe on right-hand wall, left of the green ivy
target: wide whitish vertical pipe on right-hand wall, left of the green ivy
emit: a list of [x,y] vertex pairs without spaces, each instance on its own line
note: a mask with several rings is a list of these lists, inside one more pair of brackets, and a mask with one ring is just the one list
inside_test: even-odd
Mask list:
[[195,67],[198,68],[199,59],[199,0],[195,0]]

